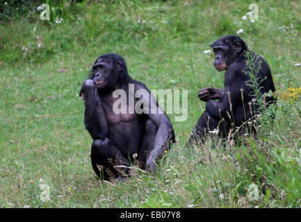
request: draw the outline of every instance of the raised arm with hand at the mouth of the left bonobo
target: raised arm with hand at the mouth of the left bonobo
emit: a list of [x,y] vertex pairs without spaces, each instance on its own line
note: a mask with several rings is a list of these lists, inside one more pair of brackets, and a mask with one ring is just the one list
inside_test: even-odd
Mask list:
[[85,101],[84,122],[92,139],[105,139],[108,134],[108,123],[93,80],[88,79],[83,82],[79,96],[83,96]]

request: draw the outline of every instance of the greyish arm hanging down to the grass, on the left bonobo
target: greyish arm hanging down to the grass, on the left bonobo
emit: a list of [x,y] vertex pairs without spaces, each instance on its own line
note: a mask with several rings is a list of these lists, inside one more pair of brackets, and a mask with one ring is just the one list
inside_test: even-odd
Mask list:
[[140,100],[143,101],[143,112],[158,128],[154,139],[154,147],[145,163],[147,169],[156,171],[156,161],[163,155],[170,142],[174,142],[174,130],[167,115],[156,103],[154,96],[147,89],[143,90],[142,95],[143,97]]

